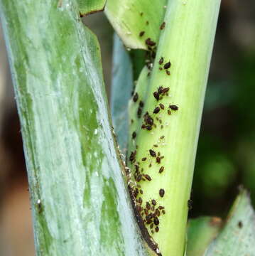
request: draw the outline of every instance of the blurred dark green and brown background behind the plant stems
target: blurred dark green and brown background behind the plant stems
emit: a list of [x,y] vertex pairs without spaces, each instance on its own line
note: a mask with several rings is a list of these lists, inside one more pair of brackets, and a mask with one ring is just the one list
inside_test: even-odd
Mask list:
[[[109,92],[112,28],[104,14],[87,16],[84,21],[99,38]],[[0,134],[0,255],[31,256],[26,166],[1,23]],[[255,206],[255,2],[222,0],[190,217],[225,217],[240,185],[249,189]]]

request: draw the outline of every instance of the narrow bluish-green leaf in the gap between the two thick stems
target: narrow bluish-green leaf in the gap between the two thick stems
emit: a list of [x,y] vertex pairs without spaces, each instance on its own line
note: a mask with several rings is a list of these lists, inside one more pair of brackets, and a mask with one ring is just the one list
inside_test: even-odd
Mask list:
[[126,154],[129,119],[128,105],[133,90],[133,70],[129,54],[114,34],[111,110],[114,131],[121,151]]

